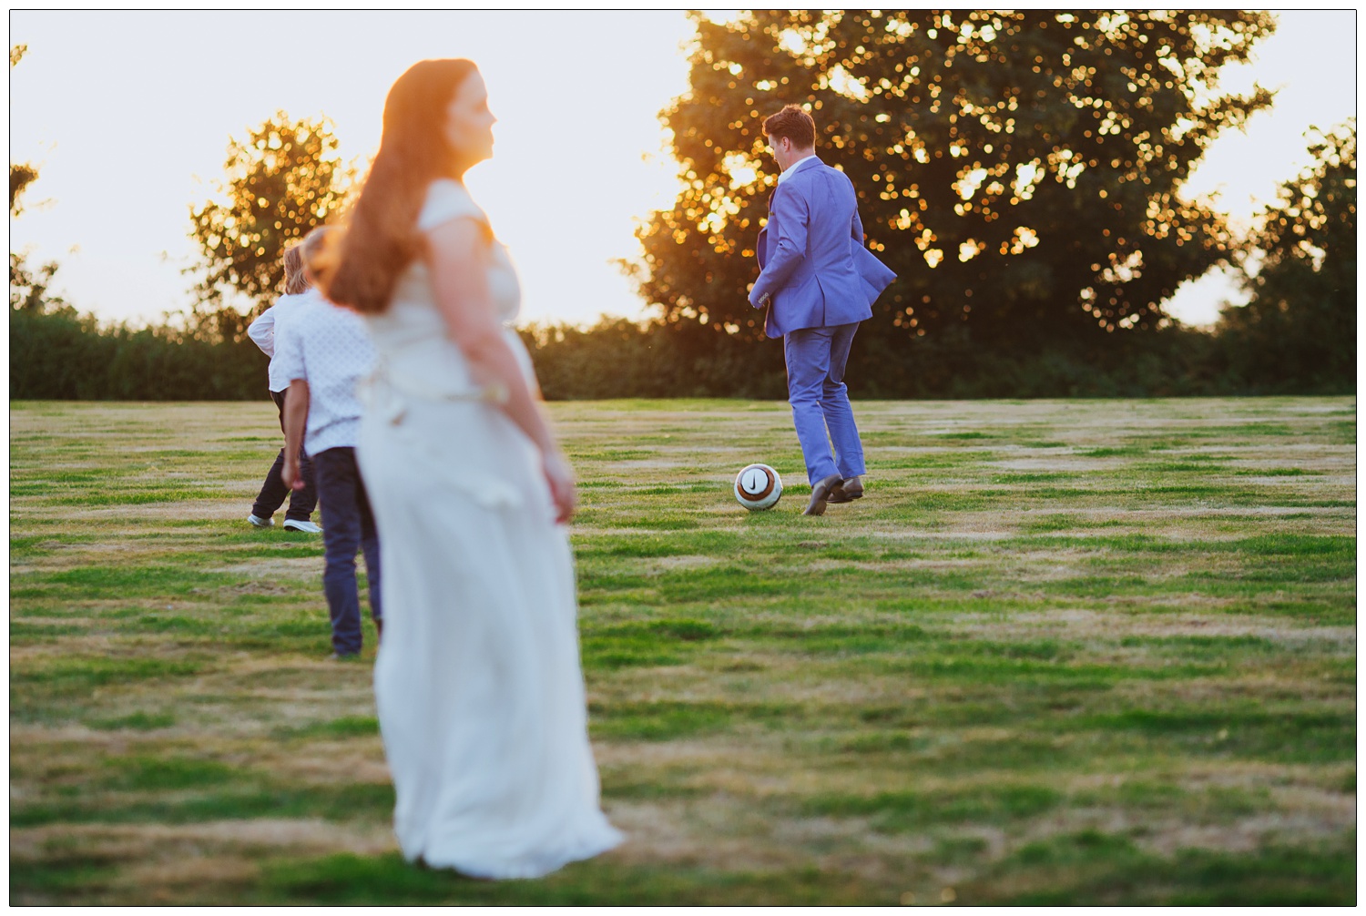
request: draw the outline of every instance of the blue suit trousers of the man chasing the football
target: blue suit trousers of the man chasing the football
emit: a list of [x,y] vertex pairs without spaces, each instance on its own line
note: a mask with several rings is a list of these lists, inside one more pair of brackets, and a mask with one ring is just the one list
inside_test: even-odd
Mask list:
[[783,334],[787,400],[792,405],[792,425],[802,442],[811,485],[832,474],[844,479],[863,475],[863,442],[844,386],[844,364],[856,330],[858,322],[854,322]]

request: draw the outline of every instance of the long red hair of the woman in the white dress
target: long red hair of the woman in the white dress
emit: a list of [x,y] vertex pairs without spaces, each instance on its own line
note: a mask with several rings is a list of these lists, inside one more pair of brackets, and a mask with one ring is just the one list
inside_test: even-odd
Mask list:
[[419,60],[389,89],[380,152],[344,232],[309,259],[324,295],[339,306],[385,311],[399,274],[422,255],[417,223],[428,186],[460,177],[443,130],[447,108],[475,70],[464,59]]

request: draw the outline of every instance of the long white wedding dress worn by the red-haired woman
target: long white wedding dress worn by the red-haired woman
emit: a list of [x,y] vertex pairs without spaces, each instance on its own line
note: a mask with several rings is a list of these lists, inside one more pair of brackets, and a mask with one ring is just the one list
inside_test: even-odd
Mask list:
[[[455,218],[488,225],[463,184],[434,182],[419,228]],[[516,274],[493,247],[490,294],[531,380],[508,326]],[[545,875],[622,841],[598,804],[568,534],[535,446],[471,384],[421,261],[369,328],[380,369],[357,455],[384,567],[374,696],[393,829],[410,861]]]

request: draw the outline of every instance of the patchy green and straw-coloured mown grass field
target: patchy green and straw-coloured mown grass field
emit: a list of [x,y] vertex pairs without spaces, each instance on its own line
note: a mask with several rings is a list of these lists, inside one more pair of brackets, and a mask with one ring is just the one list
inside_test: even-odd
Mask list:
[[486,883],[402,861],[373,631],[243,521],[273,407],[11,404],[11,902],[1355,902],[1354,399],[855,410],[807,519],[785,404],[550,405],[630,840]]

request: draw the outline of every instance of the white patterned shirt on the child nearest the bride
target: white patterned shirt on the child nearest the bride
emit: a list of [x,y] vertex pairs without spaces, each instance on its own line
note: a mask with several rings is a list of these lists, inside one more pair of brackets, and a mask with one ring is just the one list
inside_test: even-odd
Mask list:
[[355,448],[361,430],[358,381],[374,369],[374,344],[361,315],[333,306],[321,295],[292,310],[276,333],[275,363],[280,375],[309,384],[309,422],[303,450],[309,456],[332,448]]

